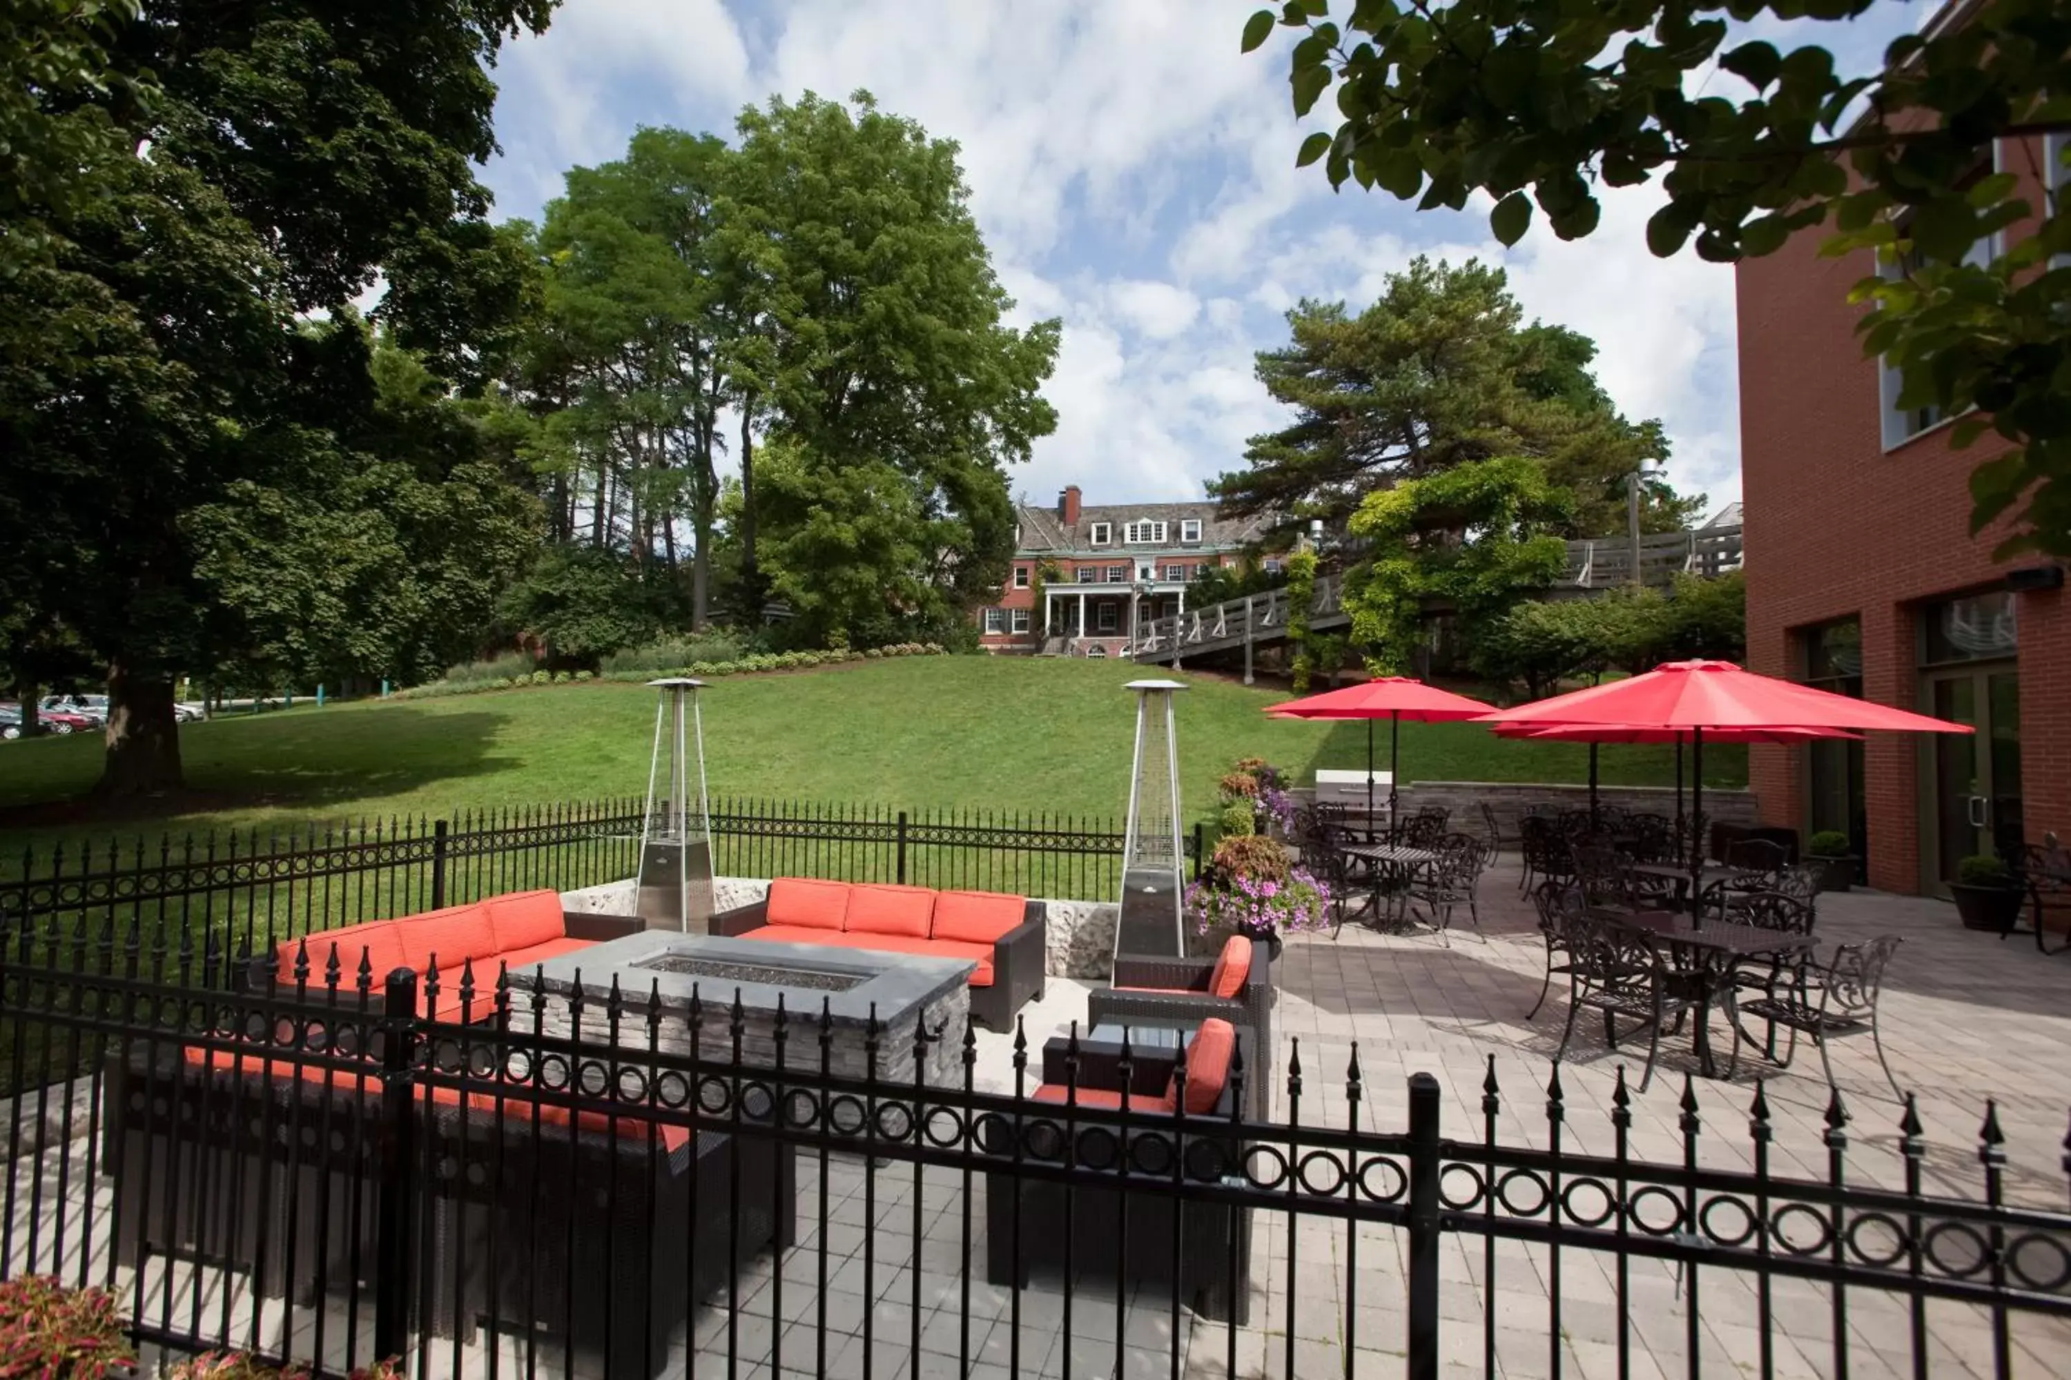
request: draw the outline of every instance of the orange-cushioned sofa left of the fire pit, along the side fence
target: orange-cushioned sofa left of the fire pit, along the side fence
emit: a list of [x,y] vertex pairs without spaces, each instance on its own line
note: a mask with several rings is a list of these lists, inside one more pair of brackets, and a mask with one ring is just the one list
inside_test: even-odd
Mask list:
[[[338,991],[356,995],[364,962],[377,1001],[389,972],[414,968],[427,997],[425,1014],[433,1020],[462,1018],[462,974],[472,970],[474,993],[464,1014],[468,1020],[487,1020],[495,1014],[499,970],[507,968],[512,983],[518,983],[534,964],[640,929],[640,919],[630,914],[561,910],[559,892],[512,892],[466,906],[284,939],[273,946],[267,968],[282,987],[307,981],[309,991],[319,993],[331,985],[336,954]],[[429,981],[433,966],[439,974],[435,993]],[[257,972],[255,979],[263,983],[267,974]]]

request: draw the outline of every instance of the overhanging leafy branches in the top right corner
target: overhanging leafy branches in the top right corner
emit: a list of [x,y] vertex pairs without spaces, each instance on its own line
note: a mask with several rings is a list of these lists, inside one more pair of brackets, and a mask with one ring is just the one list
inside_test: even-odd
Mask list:
[[[2071,199],[2019,197],[1994,168],[2071,130],[2071,6],[1984,0],[1897,37],[1874,74],[1837,70],[1818,23],[1893,0],[1363,2],[1288,0],[1245,25],[1301,31],[1288,81],[1309,114],[1336,87],[1338,126],[1305,139],[1332,184],[1419,209],[1495,199],[1504,244],[1543,215],[1597,230],[1603,186],[1659,180],[1655,254],[1769,254],[1831,226],[1825,252],[1874,250],[1854,290],[1864,350],[1903,368],[1899,406],[1934,403],[1957,445],[1992,437],[1972,474],[1972,530],[2009,519],[2001,554],[2071,554]],[[1733,25],[1764,25],[1771,37]],[[1773,37],[1781,37],[1779,46]],[[1740,79],[1713,81],[1713,64]],[[1698,77],[1704,72],[1704,77]],[[2071,159],[2071,141],[2057,141]],[[2067,172],[2040,166],[2044,186]],[[1990,244],[1984,254],[1978,244]]]

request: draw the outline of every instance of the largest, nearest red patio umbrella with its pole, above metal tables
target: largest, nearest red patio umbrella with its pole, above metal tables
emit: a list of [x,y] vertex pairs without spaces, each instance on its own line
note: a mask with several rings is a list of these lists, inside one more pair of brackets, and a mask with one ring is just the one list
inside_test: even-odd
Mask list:
[[[1595,724],[1673,728],[1690,732],[1690,813],[1704,819],[1704,734],[1721,728],[1891,728],[1903,732],[1974,732],[1872,699],[1762,677],[1733,662],[1665,662],[1609,685],[1593,685],[1514,710],[1483,716],[1501,724]],[[1690,896],[1698,894],[1702,848],[1690,850]]]

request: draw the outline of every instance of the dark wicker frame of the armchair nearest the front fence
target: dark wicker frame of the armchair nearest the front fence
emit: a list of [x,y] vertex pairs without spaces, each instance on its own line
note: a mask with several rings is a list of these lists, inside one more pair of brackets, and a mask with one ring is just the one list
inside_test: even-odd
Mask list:
[[[1236,1028],[1238,1049],[1253,1047],[1253,1034]],[[1249,1055],[1247,1055],[1249,1059]],[[1143,1063],[1162,1063],[1164,1076],[1176,1066],[1174,1053],[1145,1053]],[[1245,1078],[1249,1086],[1249,1074]],[[1081,1082],[1081,1088],[1091,1084]],[[1118,1088],[1108,1088],[1118,1090]],[[1137,1146],[1147,1138],[1172,1142],[1172,1130],[1180,1130],[1187,1163],[1201,1165],[1212,1157],[1220,1165],[1243,1163],[1241,1121],[1236,1119],[1238,1092],[1224,1084],[1216,1107],[1201,1115],[1174,1117],[1154,1113],[1147,1105],[1131,1119],[1129,1142]],[[1245,1101],[1251,1099],[1243,1092]],[[1156,1119],[1156,1121],[1154,1121]],[[1031,1128],[1046,1121],[1054,1136]],[[1149,1123],[1145,1123],[1149,1121]],[[1114,1113],[1073,1113],[1060,1103],[1033,1107],[1021,1126],[1000,1117],[986,1126],[986,1152],[1000,1159],[1015,1157],[1017,1144],[1021,1161],[1052,1159],[1064,1161],[1062,1136],[1067,1123],[1075,1130],[1079,1146],[1071,1150],[1071,1163],[1110,1163],[1114,1157]],[[1044,1138],[1056,1140],[1056,1154],[1036,1154]],[[1141,1150],[1131,1152],[1139,1163]],[[1156,1154],[1147,1159],[1158,1159]],[[1019,1200],[1019,1231],[1015,1204]],[[1071,1227],[1071,1260],[1064,1260],[1067,1223]],[[1127,1231],[1127,1237],[1125,1237]],[[1015,1289],[1027,1287],[1036,1277],[1073,1274],[1110,1279],[1116,1268],[1116,1254],[1122,1254],[1125,1279],[1118,1287],[1145,1283],[1172,1283],[1172,1233],[1178,1231],[1178,1293],[1187,1306],[1212,1320],[1243,1326],[1251,1312],[1251,1208],[1230,1202],[1209,1202],[1199,1198],[1176,1198],[1162,1192],[1127,1192],[1108,1188],[1087,1188],[1083,1177],[1075,1183],[1064,1179],[1029,1177],[1019,1171],[996,1171],[986,1175],[986,1279],[994,1285]],[[1236,1274],[1230,1274],[1230,1260],[1236,1260]]]

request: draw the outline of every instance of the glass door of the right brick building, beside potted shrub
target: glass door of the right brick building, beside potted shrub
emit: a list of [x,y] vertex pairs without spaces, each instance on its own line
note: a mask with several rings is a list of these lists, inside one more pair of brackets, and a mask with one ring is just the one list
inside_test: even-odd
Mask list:
[[1924,823],[1928,886],[1943,892],[1974,852],[2021,842],[2021,683],[2015,670],[1928,674],[1928,714],[1976,732],[1936,732],[1928,747]]

